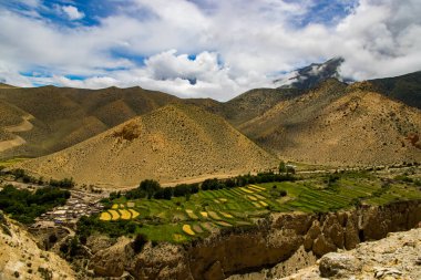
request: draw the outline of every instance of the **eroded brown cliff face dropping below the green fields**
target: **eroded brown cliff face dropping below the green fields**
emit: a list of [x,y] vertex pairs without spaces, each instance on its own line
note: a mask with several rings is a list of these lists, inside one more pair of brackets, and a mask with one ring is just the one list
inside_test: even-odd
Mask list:
[[[147,245],[137,255],[127,243],[119,250],[113,246],[99,251],[91,267],[100,276],[129,271],[136,279],[236,279],[235,274],[261,270],[265,276],[285,277],[312,265],[315,257],[353,249],[361,241],[408,230],[420,221],[419,200],[331,214],[273,214],[255,227],[224,229],[188,246]],[[119,271],[115,259],[124,262]],[[340,269],[340,263],[335,269]],[[265,279],[260,276],[253,279]]]

